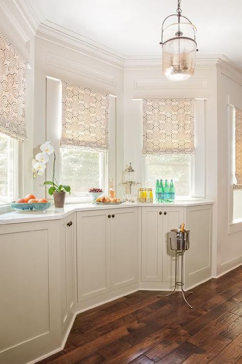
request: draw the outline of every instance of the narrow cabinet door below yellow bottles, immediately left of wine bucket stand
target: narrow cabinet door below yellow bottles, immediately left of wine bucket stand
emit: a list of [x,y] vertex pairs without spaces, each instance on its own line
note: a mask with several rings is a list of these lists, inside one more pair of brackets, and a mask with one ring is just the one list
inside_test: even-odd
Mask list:
[[141,281],[162,280],[162,207],[142,207]]

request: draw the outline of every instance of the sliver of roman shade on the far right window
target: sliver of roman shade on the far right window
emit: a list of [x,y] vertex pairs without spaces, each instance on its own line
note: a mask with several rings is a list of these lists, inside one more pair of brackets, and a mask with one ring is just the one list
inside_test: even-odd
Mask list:
[[235,189],[242,189],[242,110],[235,111]]

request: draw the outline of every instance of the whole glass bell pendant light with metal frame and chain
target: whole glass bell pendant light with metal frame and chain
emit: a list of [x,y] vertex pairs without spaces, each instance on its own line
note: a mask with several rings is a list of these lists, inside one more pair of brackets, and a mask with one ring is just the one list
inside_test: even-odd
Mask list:
[[[167,16],[161,29],[162,69],[164,76],[171,81],[187,80],[193,75],[198,51],[197,29],[187,17],[181,15],[180,6],[181,0],[178,0],[177,14]],[[166,26],[168,19],[172,24]]]

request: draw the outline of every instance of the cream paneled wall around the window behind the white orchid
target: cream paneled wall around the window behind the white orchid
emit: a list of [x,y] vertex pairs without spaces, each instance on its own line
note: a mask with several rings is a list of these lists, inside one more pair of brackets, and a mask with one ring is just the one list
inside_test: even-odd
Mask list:
[[[109,170],[109,177],[113,177],[114,183],[116,182],[120,190],[118,184],[121,181],[123,168],[123,70],[80,53],[75,47],[67,47],[66,44],[56,44],[54,41],[37,37],[35,42],[34,153],[39,151],[40,144],[48,138],[46,76],[66,79],[116,96],[116,118],[110,120],[111,128],[114,130],[112,138],[115,139],[115,145],[112,148],[113,151],[109,153],[109,160],[114,159],[112,163],[114,167]],[[37,177],[34,181],[34,192],[38,196],[44,195],[42,185],[44,180],[45,176]],[[118,194],[122,192],[119,190]]]

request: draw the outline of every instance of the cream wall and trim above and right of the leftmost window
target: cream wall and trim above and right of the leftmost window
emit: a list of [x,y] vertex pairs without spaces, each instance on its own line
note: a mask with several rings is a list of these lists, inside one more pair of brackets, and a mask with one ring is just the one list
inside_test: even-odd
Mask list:
[[34,112],[34,32],[27,22],[25,12],[17,8],[14,0],[0,3],[0,29],[12,42],[21,56],[29,63],[26,100],[26,122],[28,140],[20,143],[20,195],[25,196],[33,190],[33,174],[31,171],[33,158],[33,112]]

